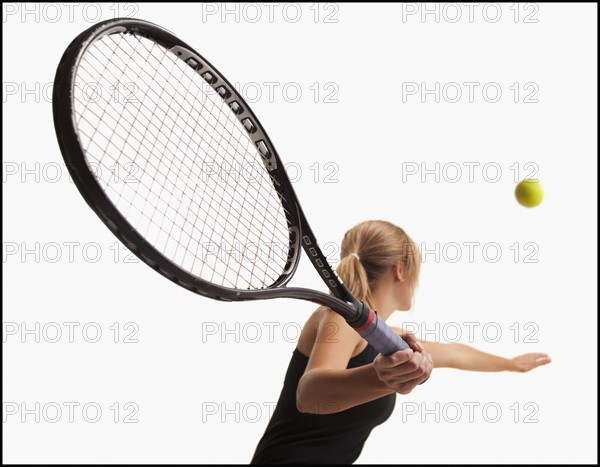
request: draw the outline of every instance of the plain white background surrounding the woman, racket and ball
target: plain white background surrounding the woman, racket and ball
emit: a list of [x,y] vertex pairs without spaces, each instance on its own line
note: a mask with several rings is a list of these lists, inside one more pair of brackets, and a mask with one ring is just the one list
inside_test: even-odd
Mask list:
[[[313,309],[211,301],[128,262],[69,182],[52,122],[56,66],[94,22],[135,14],[245,86],[301,170],[296,191],[334,262],[345,230],[366,219],[429,251],[415,308],[390,324],[553,358],[527,374],[435,371],[398,396],[359,463],[596,462],[597,6],[224,8],[3,6],[4,461],[247,463]],[[436,83],[437,97],[421,93]],[[546,193],[535,209],[513,196],[530,167]],[[323,289],[306,263],[294,283]]]

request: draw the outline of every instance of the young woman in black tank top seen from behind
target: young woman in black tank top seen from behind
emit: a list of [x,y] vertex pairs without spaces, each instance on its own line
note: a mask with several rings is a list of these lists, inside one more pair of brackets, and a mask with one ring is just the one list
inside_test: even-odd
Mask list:
[[[344,235],[338,275],[384,320],[411,308],[421,258],[415,243],[385,221]],[[351,464],[371,430],[391,415],[433,367],[529,371],[550,362],[531,353],[507,360],[461,344],[421,342],[396,329],[411,349],[378,355],[343,318],[321,307],[308,319],[285,375],[277,407],[252,464]]]

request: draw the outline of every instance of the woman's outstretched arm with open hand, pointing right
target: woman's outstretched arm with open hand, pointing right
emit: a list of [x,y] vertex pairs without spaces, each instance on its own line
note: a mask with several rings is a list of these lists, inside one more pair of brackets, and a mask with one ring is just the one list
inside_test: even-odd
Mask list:
[[551,362],[543,353],[528,353],[512,359],[482,352],[464,344],[440,344],[421,341],[433,358],[435,368],[467,371],[530,371]]

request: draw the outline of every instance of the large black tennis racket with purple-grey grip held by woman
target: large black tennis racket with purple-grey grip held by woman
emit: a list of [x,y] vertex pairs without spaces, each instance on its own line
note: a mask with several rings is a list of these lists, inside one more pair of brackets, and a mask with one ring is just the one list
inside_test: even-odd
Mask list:
[[[53,114],[85,201],[163,276],[216,300],[308,300],[383,355],[408,348],[328,264],[242,96],[167,30],[123,18],[82,32],[58,66]],[[331,294],[287,286],[302,249]]]

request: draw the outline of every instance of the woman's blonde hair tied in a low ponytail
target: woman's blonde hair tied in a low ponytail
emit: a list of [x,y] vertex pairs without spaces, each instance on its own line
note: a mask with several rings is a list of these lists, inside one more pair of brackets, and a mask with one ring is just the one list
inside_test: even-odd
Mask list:
[[400,227],[387,221],[362,222],[344,234],[336,272],[360,301],[372,306],[372,289],[401,263],[413,289],[419,281],[421,255],[415,242]]

